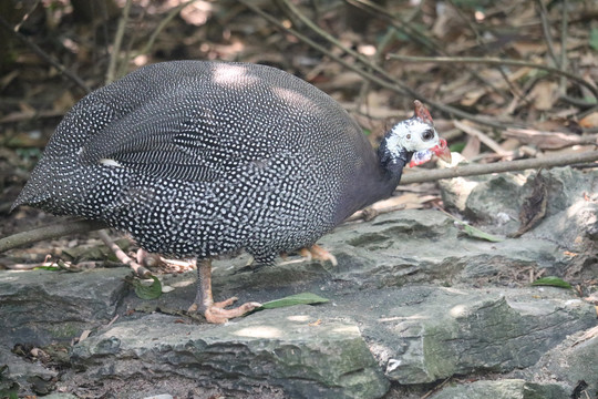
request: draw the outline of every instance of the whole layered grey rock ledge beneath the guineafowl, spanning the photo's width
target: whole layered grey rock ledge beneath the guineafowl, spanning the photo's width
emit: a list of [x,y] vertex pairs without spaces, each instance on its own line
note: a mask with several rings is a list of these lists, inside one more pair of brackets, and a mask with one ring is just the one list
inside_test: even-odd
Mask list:
[[[528,283],[540,274],[596,278],[598,172],[544,174],[547,215],[519,238],[474,239],[437,211],[403,211],[323,237],[337,267],[216,262],[216,298],[310,291],[330,299],[223,326],[176,314],[194,298],[195,273],[162,276],[175,289],[141,300],[123,282],[126,268],[0,272],[0,392],[394,399],[434,389],[435,399],[556,399],[584,381],[592,398],[595,307],[571,289]],[[518,228],[532,178],[443,184],[445,205],[504,238]],[[89,338],[72,345],[84,330]]]

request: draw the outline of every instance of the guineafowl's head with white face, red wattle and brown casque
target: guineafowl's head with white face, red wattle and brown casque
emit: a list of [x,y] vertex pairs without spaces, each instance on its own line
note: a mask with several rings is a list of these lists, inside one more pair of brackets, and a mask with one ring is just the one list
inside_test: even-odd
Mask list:
[[451,162],[451,151],[444,139],[440,139],[434,129],[430,112],[417,100],[415,114],[395,124],[384,136],[378,154],[382,166],[400,177],[404,165],[421,165],[437,155]]

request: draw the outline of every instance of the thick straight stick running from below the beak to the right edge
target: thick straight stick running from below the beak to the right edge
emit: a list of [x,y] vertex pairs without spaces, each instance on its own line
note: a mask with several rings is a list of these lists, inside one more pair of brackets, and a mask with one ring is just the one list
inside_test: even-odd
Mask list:
[[540,167],[566,166],[596,161],[598,161],[598,151],[587,151],[578,154],[564,154],[549,157],[546,156],[533,160],[495,162],[491,164],[468,164],[451,168],[406,174],[401,178],[401,184],[435,182],[442,178],[476,176],[491,173],[515,172]]

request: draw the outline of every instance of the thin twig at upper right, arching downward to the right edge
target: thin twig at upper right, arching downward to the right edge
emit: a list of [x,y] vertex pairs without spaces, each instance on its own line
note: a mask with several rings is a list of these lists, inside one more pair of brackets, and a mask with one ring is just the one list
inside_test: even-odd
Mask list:
[[591,83],[585,81],[582,78],[569,73],[567,71],[561,71],[558,68],[543,65],[534,62],[518,61],[518,60],[508,60],[508,59],[497,59],[497,58],[476,58],[476,57],[412,57],[412,55],[401,55],[401,54],[389,54],[389,58],[406,61],[406,62],[434,62],[434,63],[483,63],[488,65],[513,65],[513,66],[527,66],[544,70],[554,74],[566,76],[567,79],[586,86],[594,96],[598,100],[598,88],[595,88]]

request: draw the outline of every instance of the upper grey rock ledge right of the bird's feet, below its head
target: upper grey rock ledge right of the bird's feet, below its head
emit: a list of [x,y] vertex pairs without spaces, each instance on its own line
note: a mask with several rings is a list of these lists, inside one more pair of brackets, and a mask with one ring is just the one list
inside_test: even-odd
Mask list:
[[359,282],[361,288],[414,283],[471,286],[501,279],[511,284],[517,270],[543,268],[547,275],[560,275],[570,260],[547,239],[491,243],[463,236],[454,221],[437,211],[381,215],[369,224],[337,228],[321,243],[339,259],[334,278]]

